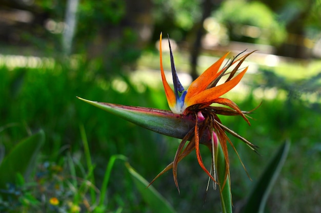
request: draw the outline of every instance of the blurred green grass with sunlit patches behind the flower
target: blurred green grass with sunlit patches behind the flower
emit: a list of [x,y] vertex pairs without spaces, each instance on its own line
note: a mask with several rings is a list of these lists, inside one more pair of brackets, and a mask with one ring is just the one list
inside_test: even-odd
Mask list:
[[[151,53],[143,55],[138,65],[153,61],[148,64],[158,70],[157,56]],[[175,59],[176,55],[179,54],[175,54]],[[178,56],[176,67],[183,63],[182,70],[187,69],[184,61],[186,58]],[[153,78],[146,81],[140,81],[135,73],[116,80],[104,79],[99,77],[99,72],[103,71],[92,67],[83,66],[80,61],[78,66],[56,64],[48,68],[0,68],[0,143],[6,153],[17,141],[38,129],[43,129],[46,135],[31,181],[23,183],[23,191],[37,202],[34,207],[28,206],[28,202],[17,202],[19,205],[13,212],[32,209],[77,212],[79,208],[82,212],[150,211],[133,185],[124,160],[126,158],[139,174],[150,181],[173,160],[178,140],[143,130],[75,97],[167,109],[161,82],[154,80],[157,77],[154,72]],[[319,61],[312,61],[307,66],[284,63],[275,72],[289,77],[291,82],[314,75],[319,72],[319,67]],[[169,63],[165,68],[169,69]],[[304,72],[306,69],[311,71]],[[140,66],[139,70],[149,73],[146,67]],[[145,78],[145,75],[141,76]],[[264,78],[259,75],[249,74],[245,80],[251,82]],[[262,173],[263,165],[278,146],[290,139],[289,157],[268,199],[268,206],[271,212],[314,212],[320,208],[317,199],[321,191],[318,185],[321,181],[318,169],[321,166],[320,112],[312,110],[310,103],[303,99],[287,99],[287,95],[280,94],[279,90],[272,98],[266,97],[267,89],[261,89],[262,92],[256,90],[248,86],[241,90],[242,93],[230,94],[243,110],[251,110],[263,101],[253,114],[251,126],[238,118],[222,118],[222,121],[260,147],[261,156],[258,156],[232,138],[253,181]],[[209,165],[208,151],[203,147],[201,152],[205,164],[208,162]],[[232,151],[230,158],[232,195],[236,207],[254,183],[248,179]],[[177,193],[171,173],[160,177],[153,186],[179,212],[219,211],[217,191],[210,190],[204,202],[207,177],[197,165],[194,155],[179,163],[181,195]],[[29,187],[30,184],[37,187]],[[52,205],[49,202],[52,197],[60,203]]]

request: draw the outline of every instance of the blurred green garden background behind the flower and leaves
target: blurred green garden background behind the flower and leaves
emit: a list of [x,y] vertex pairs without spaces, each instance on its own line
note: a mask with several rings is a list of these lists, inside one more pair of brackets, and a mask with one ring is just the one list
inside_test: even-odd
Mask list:
[[[46,136],[32,173],[0,192],[11,196],[10,202],[2,196],[0,206],[4,212],[99,212],[94,198],[112,156],[126,156],[148,181],[173,160],[178,139],[76,99],[168,109],[159,74],[163,32],[184,86],[228,51],[232,57],[257,50],[246,60],[242,83],[225,96],[247,111],[262,102],[251,126],[222,117],[260,147],[257,155],[231,136],[253,180],[229,147],[234,210],[289,140],[267,212],[320,212],[320,20],[318,0],[0,0],[0,159],[38,130]],[[163,62],[170,71],[167,50]],[[210,166],[210,152],[201,152]],[[210,188],[205,198],[207,175],[193,153],[179,163],[178,183],[180,195],[171,172],[153,186],[177,212],[220,211],[217,191]],[[152,212],[123,161],[114,163],[103,204],[100,212]]]

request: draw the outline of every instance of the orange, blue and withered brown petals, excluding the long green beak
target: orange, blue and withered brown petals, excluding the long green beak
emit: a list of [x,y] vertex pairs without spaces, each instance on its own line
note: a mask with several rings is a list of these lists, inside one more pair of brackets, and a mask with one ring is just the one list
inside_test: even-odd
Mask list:
[[[229,53],[226,53],[222,58],[218,59],[211,67],[209,67],[202,75],[200,75],[196,80],[194,80],[187,90],[184,89],[182,84],[179,82],[177,77],[174,58],[170,48],[170,59],[171,59],[171,70],[173,76],[174,91],[169,86],[163,68],[162,61],[162,34],[159,38],[159,51],[160,51],[160,72],[162,75],[162,81],[165,89],[166,98],[171,111],[175,114],[182,115],[194,115],[195,125],[194,128],[189,131],[183,138],[182,142],[177,148],[177,152],[174,161],[169,164],[157,177],[162,175],[168,169],[173,168],[173,176],[176,187],[178,189],[177,183],[177,163],[188,155],[195,148],[197,161],[202,167],[202,169],[208,174],[208,176],[216,183],[215,179],[215,147],[217,147],[217,138],[220,145],[223,148],[223,153],[226,161],[226,174],[223,185],[225,184],[226,178],[229,176],[229,158],[228,158],[228,148],[227,143],[229,143],[235,150],[235,147],[226,132],[232,134],[233,136],[243,140],[247,145],[251,147],[252,150],[256,151],[257,146],[239,136],[237,133],[230,130],[228,127],[222,124],[217,115],[239,115],[244,118],[244,120],[250,124],[246,114],[250,112],[241,111],[238,106],[230,99],[222,98],[220,96],[226,94],[231,89],[233,89],[236,84],[242,79],[248,68],[241,68],[243,61],[251,53],[248,53],[237,59],[237,56],[229,60],[223,68],[220,68]],[[228,69],[234,65],[232,71]],[[240,72],[236,75],[236,72]],[[225,75],[228,75],[224,83],[219,84],[219,80]],[[180,95],[179,95],[180,94]],[[217,103],[223,106],[214,107],[211,104]],[[187,141],[190,141],[188,145],[184,148]],[[199,152],[199,143],[203,143],[210,148],[212,152],[212,168],[211,172],[204,166],[202,156]],[[184,150],[183,150],[184,148]],[[236,152],[237,153],[237,152]],[[242,162],[242,161],[241,161]],[[243,165],[244,166],[244,165]],[[245,168],[245,167],[244,167]],[[178,189],[179,190],[179,189]]]

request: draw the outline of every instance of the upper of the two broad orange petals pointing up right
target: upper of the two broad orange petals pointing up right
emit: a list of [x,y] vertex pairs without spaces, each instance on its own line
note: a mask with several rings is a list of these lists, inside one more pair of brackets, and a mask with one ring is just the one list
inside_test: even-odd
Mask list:
[[230,52],[226,53],[222,58],[218,59],[211,67],[191,83],[185,100],[190,99],[207,88],[207,86],[219,75],[218,70],[229,53]]

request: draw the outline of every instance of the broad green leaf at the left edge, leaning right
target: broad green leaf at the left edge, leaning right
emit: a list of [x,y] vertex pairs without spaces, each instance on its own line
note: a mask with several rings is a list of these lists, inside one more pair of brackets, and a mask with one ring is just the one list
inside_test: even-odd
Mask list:
[[0,188],[6,188],[7,183],[16,184],[15,177],[18,173],[28,179],[44,142],[45,133],[41,130],[13,147],[0,164]]

